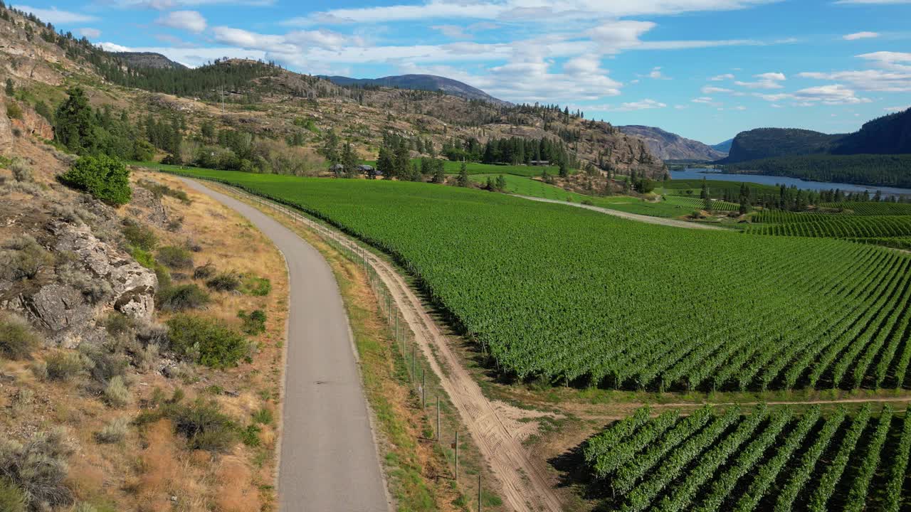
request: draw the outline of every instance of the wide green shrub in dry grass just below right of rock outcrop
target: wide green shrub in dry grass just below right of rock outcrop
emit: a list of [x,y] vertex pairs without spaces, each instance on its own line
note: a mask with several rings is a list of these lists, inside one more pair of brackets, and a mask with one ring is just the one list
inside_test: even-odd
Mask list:
[[171,318],[168,327],[171,349],[198,364],[227,368],[250,354],[250,343],[241,333],[213,319],[181,314]]

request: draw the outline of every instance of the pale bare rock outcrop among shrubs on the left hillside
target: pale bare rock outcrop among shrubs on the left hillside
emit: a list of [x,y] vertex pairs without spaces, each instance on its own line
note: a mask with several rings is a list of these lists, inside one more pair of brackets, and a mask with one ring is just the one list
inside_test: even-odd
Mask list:
[[56,251],[76,254],[93,277],[110,283],[113,293],[108,306],[132,318],[151,319],[159,287],[154,271],[99,241],[87,226],[59,223],[52,230],[56,234]]

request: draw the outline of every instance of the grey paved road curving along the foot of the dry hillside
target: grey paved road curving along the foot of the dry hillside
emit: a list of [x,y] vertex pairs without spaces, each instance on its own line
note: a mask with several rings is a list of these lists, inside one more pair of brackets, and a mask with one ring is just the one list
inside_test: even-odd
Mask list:
[[197,181],[184,181],[250,220],[288,262],[291,310],[279,465],[281,510],[391,510],[347,315],[329,265],[310,244],[260,210]]

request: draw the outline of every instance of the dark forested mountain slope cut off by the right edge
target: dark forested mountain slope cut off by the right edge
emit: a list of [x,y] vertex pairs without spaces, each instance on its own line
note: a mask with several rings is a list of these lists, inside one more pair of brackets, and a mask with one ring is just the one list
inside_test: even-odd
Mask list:
[[897,155],[911,153],[911,108],[877,118],[838,143],[832,153]]

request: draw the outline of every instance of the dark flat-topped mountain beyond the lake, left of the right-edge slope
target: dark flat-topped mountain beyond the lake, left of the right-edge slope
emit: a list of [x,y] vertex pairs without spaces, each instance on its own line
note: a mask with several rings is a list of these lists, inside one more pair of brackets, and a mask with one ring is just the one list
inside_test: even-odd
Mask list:
[[809,129],[751,129],[737,134],[731,143],[731,152],[722,163],[827,153],[844,137]]

